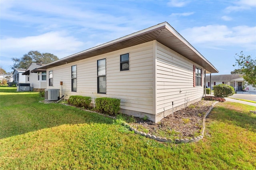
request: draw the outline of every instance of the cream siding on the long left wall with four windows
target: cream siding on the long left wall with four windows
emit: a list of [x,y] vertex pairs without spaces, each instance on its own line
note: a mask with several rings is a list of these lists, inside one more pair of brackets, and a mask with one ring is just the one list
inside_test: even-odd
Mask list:
[[[120,55],[129,53],[129,70],[120,71]],[[106,94],[97,94],[97,60],[106,59]],[[71,92],[71,66],[77,65],[77,92]],[[153,112],[153,41],[104,55],[47,69],[47,88],[60,89],[60,95],[118,98],[121,109]],[[48,72],[53,70],[53,86]],[[62,90],[60,81],[63,82]]]

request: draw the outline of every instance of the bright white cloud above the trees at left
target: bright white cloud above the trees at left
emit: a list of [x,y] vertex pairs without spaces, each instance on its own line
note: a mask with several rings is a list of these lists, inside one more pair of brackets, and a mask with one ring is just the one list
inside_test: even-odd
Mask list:
[[[52,53],[58,58],[62,58],[78,52],[85,45],[86,43],[78,41],[64,31],[48,32],[42,35],[21,38],[8,37],[1,39],[1,56],[19,58],[22,56],[15,55],[38,50],[42,53]],[[8,56],[7,54],[12,54],[13,56]]]

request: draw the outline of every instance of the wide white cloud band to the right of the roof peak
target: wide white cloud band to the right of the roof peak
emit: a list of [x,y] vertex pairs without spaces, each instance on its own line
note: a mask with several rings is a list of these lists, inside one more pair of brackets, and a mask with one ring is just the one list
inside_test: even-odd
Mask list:
[[256,49],[256,27],[246,25],[227,27],[226,25],[207,25],[192,27],[180,31],[191,44],[197,44],[210,49],[225,47],[242,47]]

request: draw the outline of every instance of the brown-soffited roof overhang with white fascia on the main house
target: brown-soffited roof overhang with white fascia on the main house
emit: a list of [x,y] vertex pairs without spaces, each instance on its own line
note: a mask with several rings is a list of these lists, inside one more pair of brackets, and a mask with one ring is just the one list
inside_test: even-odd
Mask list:
[[169,23],[164,22],[154,25],[147,29],[143,29],[136,33],[126,35],[119,39],[98,45],[96,47],[81,51],[79,53],[64,57],[49,64],[37,67],[38,69],[47,69],[60,66],[66,63],[72,63],[82,59],[87,59],[97,55],[110,53],[119,49],[132,47],[134,45],[146,43],[156,40],[177,53],[183,55],[194,63],[203,66],[206,73],[217,73],[218,70],[205,59],[186,39],[184,39]]

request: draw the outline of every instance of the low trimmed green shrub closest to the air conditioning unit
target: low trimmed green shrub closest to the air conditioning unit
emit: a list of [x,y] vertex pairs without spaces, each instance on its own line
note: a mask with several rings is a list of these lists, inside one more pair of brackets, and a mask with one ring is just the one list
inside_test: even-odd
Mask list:
[[88,96],[70,96],[68,99],[68,104],[72,104],[76,107],[90,107],[90,103],[92,102],[92,98]]

